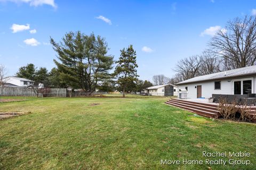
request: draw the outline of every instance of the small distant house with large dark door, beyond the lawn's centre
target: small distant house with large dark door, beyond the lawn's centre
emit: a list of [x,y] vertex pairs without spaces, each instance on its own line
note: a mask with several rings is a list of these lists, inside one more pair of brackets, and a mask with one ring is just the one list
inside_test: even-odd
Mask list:
[[148,87],[147,92],[152,96],[177,96],[178,87],[173,84],[163,84]]

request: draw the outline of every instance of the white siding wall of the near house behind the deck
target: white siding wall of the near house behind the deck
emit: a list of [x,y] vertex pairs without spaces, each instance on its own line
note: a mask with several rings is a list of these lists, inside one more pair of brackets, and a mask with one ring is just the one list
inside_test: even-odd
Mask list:
[[[245,78],[245,77],[243,77]],[[241,78],[241,79],[243,79]],[[252,78],[252,77],[247,77]],[[253,77],[253,91],[252,93],[255,93],[256,89],[256,77]],[[239,79],[239,78],[234,78]],[[178,85],[178,91],[179,89],[185,89],[185,87],[188,87],[188,98],[197,98],[197,88],[196,86],[202,86],[202,97],[210,98],[212,97],[212,94],[222,94],[222,95],[231,95],[232,94],[232,80],[233,79],[223,79],[223,80],[213,80],[213,81],[205,81],[205,82],[195,82],[195,83],[189,83],[189,84],[181,84]],[[220,90],[214,90],[214,82],[215,81],[221,81],[221,89]]]

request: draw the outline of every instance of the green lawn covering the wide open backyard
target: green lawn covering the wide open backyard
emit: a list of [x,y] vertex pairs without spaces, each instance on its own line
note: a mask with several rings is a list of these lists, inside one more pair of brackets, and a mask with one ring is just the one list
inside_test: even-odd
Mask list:
[[[0,112],[31,113],[0,121],[0,169],[255,169],[256,124],[193,116],[165,105],[166,100],[128,96],[1,103]],[[235,159],[251,165],[161,165],[161,159],[204,160],[203,151],[247,151],[251,157]]]

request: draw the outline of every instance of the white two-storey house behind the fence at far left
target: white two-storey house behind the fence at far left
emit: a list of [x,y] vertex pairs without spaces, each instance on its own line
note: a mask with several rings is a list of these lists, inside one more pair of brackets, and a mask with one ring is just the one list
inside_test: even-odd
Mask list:
[[7,77],[3,79],[5,87],[28,87],[33,85],[35,81],[18,78],[18,77]]

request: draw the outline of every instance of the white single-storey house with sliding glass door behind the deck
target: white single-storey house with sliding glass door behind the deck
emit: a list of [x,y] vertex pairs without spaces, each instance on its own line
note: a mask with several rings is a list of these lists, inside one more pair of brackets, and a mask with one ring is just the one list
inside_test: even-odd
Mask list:
[[247,95],[256,93],[256,65],[202,75],[177,83],[187,89],[188,98],[210,98],[212,94]]

